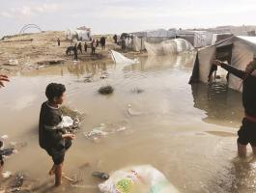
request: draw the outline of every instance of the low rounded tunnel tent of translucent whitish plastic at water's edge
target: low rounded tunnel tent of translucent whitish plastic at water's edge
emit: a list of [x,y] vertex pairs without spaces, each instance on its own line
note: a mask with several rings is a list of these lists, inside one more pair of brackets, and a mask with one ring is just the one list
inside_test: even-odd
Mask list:
[[162,41],[160,43],[144,42],[148,55],[170,55],[192,51],[194,47],[184,39]]

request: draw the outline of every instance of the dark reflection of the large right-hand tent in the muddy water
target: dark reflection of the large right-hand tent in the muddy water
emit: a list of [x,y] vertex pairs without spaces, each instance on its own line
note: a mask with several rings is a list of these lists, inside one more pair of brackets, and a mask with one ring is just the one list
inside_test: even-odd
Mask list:
[[194,107],[204,110],[206,123],[239,126],[242,120],[242,95],[224,83],[193,84]]

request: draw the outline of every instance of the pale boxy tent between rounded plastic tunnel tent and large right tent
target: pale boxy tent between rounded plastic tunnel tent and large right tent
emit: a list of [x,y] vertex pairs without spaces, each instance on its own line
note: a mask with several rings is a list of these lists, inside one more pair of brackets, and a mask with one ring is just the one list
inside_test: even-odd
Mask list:
[[212,44],[213,33],[207,31],[177,31],[177,38],[189,41],[194,47],[205,47]]

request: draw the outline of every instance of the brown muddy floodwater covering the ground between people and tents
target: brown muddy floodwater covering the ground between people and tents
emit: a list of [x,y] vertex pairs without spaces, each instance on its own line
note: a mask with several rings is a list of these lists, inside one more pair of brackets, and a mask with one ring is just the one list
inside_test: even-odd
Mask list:
[[[36,180],[37,192],[53,191],[47,176],[51,159],[38,146],[37,126],[46,85],[60,82],[67,86],[66,105],[85,116],[65,160],[66,175],[82,181],[79,187],[66,182],[56,192],[99,192],[93,171],[111,173],[138,164],[152,164],[181,192],[255,192],[256,164],[236,157],[242,96],[222,83],[188,85],[193,60],[77,63],[17,74],[0,91],[0,135],[27,146],[6,161],[4,170],[25,172]],[[100,96],[97,91],[106,84],[115,88],[114,94]],[[83,133],[100,124],[126,130],[97,143],[86,139]]]

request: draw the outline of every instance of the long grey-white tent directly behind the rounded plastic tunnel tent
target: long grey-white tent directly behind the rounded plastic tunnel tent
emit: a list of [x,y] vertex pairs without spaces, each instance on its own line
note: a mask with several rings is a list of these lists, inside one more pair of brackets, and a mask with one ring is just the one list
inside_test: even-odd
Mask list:
[[161,41],[175,39],[176,31],[158,29],[153,31],[133,32],[130,33],[130,35],[133,37],[131,46],[132,50],[141,51],[145,50],[145,41],[159,43]]

